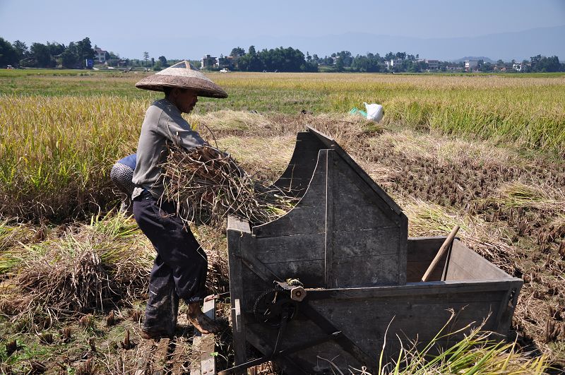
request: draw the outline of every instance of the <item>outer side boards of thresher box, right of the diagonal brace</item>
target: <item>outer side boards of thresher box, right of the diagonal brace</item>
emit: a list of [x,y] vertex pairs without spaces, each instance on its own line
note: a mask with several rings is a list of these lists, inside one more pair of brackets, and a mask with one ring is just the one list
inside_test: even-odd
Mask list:
[[383,340],[391,321],[389,338],[395,338],[398,334],[400,338],[405,338],[405,343],[416,338],[431,340],[451,316],[449,309],[458,313],[457,319],[450,325],[451,331],[457,331],[472,322],[477,326],[487,318],[484,329],[496,331],[495,317],[502,297],[504,292],[484,293],[481,296],[474,293],[451,299],[439,294],[394,300],[350,299],[344,303],[326,299],[309,303],[364,352],[371,352]]

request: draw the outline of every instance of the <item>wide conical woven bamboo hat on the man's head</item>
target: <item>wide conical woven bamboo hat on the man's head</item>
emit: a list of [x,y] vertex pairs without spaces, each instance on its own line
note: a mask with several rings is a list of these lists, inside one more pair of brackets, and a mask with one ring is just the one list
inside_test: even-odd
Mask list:
[[198,96],[227,97],[224,89],[194,69],[186,60],[169,66],[167,69],[153,74],[153,76],[145,77],[136,83],[136,88],[143,88],[144,90],[162,91],[164,87],[189,88],[195,90]]

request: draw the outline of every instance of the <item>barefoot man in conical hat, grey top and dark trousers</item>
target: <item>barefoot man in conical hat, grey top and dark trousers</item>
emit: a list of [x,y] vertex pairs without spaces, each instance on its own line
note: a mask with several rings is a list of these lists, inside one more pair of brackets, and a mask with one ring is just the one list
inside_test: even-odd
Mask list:
[[177,326],[179,299],[188,305],[186,315],[198,331],[215,333],[217,323],[201,310],[206,295],[206,253],[184,226],[174,203],[165,199],[159,165],[167,159],[170,143],[186,149],[206,144],[181,114],[191,112],[198,96],[222,98],[227,93],[188,61],[143,78],[136,87],[165,93],[164,99],[153,102],[145,112],[133,173],[133,217],[157,251],[141,336],[171,338]]

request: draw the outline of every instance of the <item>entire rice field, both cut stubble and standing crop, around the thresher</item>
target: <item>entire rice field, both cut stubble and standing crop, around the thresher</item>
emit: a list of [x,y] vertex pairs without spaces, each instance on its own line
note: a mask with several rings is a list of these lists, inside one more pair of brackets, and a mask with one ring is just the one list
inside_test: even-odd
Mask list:
[[[246,172],[274,181],[297,131],[313,126],[403,208],[410,236],[459,225],[466,246],[523,279],[507,343],[475,333],[458,344],[467,357],[405,374],[563,371],[564,75],[209,76],[230,97],[203,98],[186,118]],[[114,161],[135,152],[144,111],[159,97],[134,88],[139,79],[0,73],[0,373],[190,374],[200,359],[186,320],[170,342],[139,336],[154,251],[117,213],[109,179]],[[381,123],[347,113],[363,102],[383,105]],[[225,227],[193,230],[208,254],[208,290],[220,295],[221,369],[233,360]],[[416,353],[406,357],[417,363]]]

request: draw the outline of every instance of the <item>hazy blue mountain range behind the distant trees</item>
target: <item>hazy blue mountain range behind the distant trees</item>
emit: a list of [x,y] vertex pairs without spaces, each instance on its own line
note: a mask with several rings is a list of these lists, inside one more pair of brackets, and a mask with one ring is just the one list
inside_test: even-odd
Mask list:
[[[522,61],[530,56],[542,54],[557,55],[565,59],[565,25],[550,28],[535,28],[519,32],[503,32],[478,37],[452,37],[423,39],[418,37],[399,37],[392,35],[373,35],[349,32],[345,34],[324,35],[320,37],[284,36],[273,37],[256,35],[253,37],[167,37],[162,39],[127,40],[127,51],[122,56],[135,56],[138,51],[145,51],[150,46],[157,54],[168,59],[201,59],[205,54],[220,56],[230,54],[232,48],[245,50],[254,45],[257,50],[263,48],[293,47],[304,54],[318,54],[323,57],[333,52],[349,51],[356,54],[387,52],[407,52],[420,54],[420,58],[443,61],[460,60],[460,56],[489,56],[489,61]],[[119,36],[107,41],[97,40],[99,45],[112,45]],[[125,42],[125,41],[124,41]],[[156,55],[158,56],[158,55]],[[487,61],[486,58],[483,58]]]

